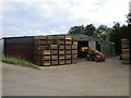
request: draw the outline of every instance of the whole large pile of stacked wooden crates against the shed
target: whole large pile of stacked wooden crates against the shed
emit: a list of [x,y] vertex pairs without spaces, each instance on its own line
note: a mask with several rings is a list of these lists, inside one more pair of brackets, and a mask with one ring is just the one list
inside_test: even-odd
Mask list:
[[62,65],[78,62],[78,40],[69,35],[36,36],[35,64]]

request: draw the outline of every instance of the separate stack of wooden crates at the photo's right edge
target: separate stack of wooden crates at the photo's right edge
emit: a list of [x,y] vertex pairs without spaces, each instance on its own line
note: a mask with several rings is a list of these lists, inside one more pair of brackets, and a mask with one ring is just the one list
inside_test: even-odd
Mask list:
[[121,42],[122,42],[122,63],[131,64],[131,39],[123,38],[121,39]]

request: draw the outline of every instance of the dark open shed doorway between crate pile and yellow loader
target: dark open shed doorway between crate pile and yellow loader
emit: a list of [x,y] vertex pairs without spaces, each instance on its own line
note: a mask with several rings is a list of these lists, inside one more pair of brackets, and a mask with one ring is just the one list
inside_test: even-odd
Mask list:
[[82,52],[80,50],[82,47],[88,47],[88,41],[87,40],[78,41],[78,58],[85,58],[85,56],[87,54],[87,52]]

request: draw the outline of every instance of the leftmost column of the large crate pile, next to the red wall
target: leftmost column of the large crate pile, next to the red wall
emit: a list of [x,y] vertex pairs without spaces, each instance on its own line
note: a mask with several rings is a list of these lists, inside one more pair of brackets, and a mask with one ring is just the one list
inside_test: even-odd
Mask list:
[[51,65],[51,51],[47,36],[35,37],[35,63],[37,65]]

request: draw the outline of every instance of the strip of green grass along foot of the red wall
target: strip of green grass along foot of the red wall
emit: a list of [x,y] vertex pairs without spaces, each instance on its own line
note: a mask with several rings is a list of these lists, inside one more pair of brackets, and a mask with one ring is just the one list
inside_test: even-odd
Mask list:
[[1,61],[1,62],[4,62],[4,63],[9,63],[9,64],[27,66],[27,68],[40,70],[37,65],[35,65],[35,64],[33,64],[33,63],[31,63],[31,62],[21,60],[21,59],[15,59],[15,58],[2,58],[2,59],[0,59],[0,61]]

